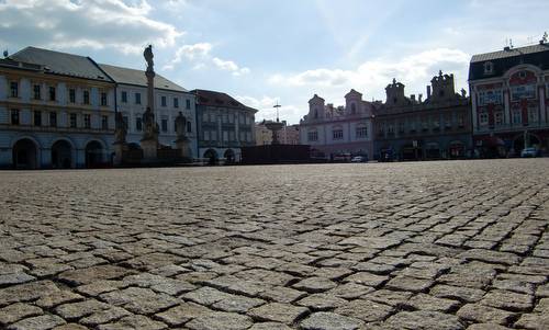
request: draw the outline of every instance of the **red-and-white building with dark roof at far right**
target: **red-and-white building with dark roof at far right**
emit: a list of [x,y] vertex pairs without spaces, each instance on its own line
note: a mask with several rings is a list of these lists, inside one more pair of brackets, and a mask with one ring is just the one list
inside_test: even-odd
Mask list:
[[474,55],[469,68],[473,144],[484,157],[549,152],[549,43]]

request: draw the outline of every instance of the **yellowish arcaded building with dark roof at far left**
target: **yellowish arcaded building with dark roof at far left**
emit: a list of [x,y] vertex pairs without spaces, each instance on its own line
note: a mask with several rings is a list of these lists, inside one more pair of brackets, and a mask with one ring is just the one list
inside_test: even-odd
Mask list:
[[26,47],[0,59],[0,168],[109,164],[114,89],[89,57]]

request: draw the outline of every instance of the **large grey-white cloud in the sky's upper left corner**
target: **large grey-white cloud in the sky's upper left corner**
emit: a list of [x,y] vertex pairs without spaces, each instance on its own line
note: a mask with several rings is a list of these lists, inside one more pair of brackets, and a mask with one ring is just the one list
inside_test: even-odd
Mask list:
[[150,11],[145,0],[5,0],[0,1],[0,34],[2,43],[16,48],[86,47],[138,54],[147,44],[173,46],[183,32],[150,19]]

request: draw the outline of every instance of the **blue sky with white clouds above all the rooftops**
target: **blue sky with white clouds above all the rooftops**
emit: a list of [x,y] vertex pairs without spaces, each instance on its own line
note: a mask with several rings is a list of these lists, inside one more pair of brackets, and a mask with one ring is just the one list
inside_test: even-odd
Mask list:
[[537,43],[548,12],[547,0],[0,0],[0,47],[145,69],[152,44],[169,80],[226,92],[256,121],[278,102],[295,124],[314,94],[384,101],[393,78],[425,95],[442,70],[468,90],[472,55]]

